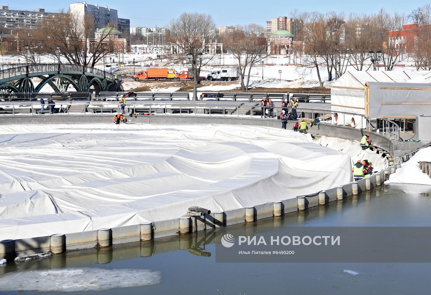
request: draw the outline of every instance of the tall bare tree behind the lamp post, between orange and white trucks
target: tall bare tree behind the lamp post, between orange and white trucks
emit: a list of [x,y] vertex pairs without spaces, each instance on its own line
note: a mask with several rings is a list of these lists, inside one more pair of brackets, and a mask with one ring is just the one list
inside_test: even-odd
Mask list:
[[207,58],[204,63],[198,59],[198,53],[203,53],[205,45],[215,38],[215,22],[212,16],[204,13],[183,13],[170,24],[170,41],[178,46],[183,53],[191,53],[195,77],[199,77],[202,66],[211,60]]

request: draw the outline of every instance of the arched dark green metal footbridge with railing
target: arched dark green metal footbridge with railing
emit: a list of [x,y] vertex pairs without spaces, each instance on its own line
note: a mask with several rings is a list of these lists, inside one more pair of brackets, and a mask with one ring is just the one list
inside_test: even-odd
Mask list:
[[[42,81],[34,86],[31,78]],[[121,79],[120,79],[121,80]],[[76,91],[119,91],[121,81],[109,72],[91,66],[74,64],[3,65],[0,70],[0,92],[39,92],[50,85],[54,92],[67,91],[70,85]]]

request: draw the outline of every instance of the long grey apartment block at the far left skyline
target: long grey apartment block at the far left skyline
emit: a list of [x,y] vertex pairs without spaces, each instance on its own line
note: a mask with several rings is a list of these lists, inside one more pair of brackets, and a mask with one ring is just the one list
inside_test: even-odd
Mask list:
[[9,6],[0,6],[0,28],[36,28],[44,19],[58,13],[47,13],[45,9],[14,10]]

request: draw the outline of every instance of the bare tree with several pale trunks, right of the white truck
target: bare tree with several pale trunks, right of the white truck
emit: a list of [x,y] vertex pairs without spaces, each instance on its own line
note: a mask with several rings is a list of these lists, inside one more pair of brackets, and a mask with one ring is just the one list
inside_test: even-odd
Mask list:
[[267,56],[263,31],[264,28],[256,24],[236,25],[235,31],[229,32],[223,39],[228,52],[238,61],[241,90],[245,92],[248,91],[252,67]]

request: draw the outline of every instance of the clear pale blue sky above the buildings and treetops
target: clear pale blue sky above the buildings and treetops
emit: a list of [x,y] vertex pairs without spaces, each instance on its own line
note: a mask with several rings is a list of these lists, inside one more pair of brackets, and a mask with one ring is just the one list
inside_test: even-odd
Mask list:
[[[90,4],[107,5],[117,9],[119,17],[130,19],[131,26],[155,25],[162,27],[169,23],[184,11],[210,13],[215,19],[216,25],[236,25],[256,22],[266,25],[266,20],[271,17],[289,16],[290,11],[298,9],[300,11],[344,11],[346,14],[355,13],[375,13],[381,7],[389,12],[404,12],[409,14],[412,9],[429,2],[425,0],[308,0],[308,1],[283,1],[283,0],[92,0]],[[45,8],[47,11],[69,9],[69,0],[18,0],[16,2],[5,3],[9,9],[28,9]]]

